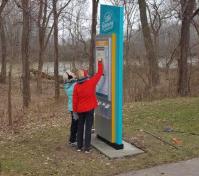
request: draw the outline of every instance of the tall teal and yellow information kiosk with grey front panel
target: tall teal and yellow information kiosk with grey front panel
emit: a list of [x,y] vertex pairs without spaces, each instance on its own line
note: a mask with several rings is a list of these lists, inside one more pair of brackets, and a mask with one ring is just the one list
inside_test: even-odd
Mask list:
[[101,5],[96,59],[104,61],[104,76],[97,86],[95,115],[97,136],[115,149],[123,149],[123,7]]

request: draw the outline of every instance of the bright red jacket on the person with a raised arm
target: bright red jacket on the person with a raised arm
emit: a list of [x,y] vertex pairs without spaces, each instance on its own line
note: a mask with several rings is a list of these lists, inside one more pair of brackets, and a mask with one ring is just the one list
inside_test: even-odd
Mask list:
[[98,72],[88,80],[77,83],[73,92],[73,111],[87,112],[97,107],[96,85],[103,74],[103,64],[98,62]]

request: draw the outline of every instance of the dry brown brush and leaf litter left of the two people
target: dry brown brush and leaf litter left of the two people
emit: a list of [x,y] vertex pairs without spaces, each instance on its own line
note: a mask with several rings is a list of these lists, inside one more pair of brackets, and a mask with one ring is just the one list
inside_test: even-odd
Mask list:
[[[12,118],[13,127],[8,126],[8,113],[7,113],[7,92],[8,85],[0,84],[0,122],[1,131],[13,131],[18,133],[20,128],[31,123],[42,123],[42,121],[49,121],[56,119],[57,116],[66,117],[66,96],[61,91],[61,97],[59,102],[54,100],[54,82],[44,80],[43,81],[43,93],[37,94],[36,81],[31,81],[31,104],[28,109],[23,109],[22,95],[21,95],[21,83],[20,79],[15,77],[12,81]],[[57,106],[60,105],[60,106]],[[56,114],[60,112],[59,114]],[[59,119],[59,118],[58,118]]]

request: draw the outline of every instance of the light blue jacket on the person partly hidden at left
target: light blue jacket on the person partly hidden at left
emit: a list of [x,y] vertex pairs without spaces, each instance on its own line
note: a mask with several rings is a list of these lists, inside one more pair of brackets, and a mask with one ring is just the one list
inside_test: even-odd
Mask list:
[[76,81],[66,82],[64,84],[64,91],[68,97],[68,110],[73,111],[73,89]]

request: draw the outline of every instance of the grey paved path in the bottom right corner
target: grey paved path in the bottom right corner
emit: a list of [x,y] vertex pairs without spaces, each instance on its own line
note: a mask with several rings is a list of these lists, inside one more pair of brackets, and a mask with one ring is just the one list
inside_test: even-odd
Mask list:
[[199,158],[132,171],[118,176],[199,176]]

